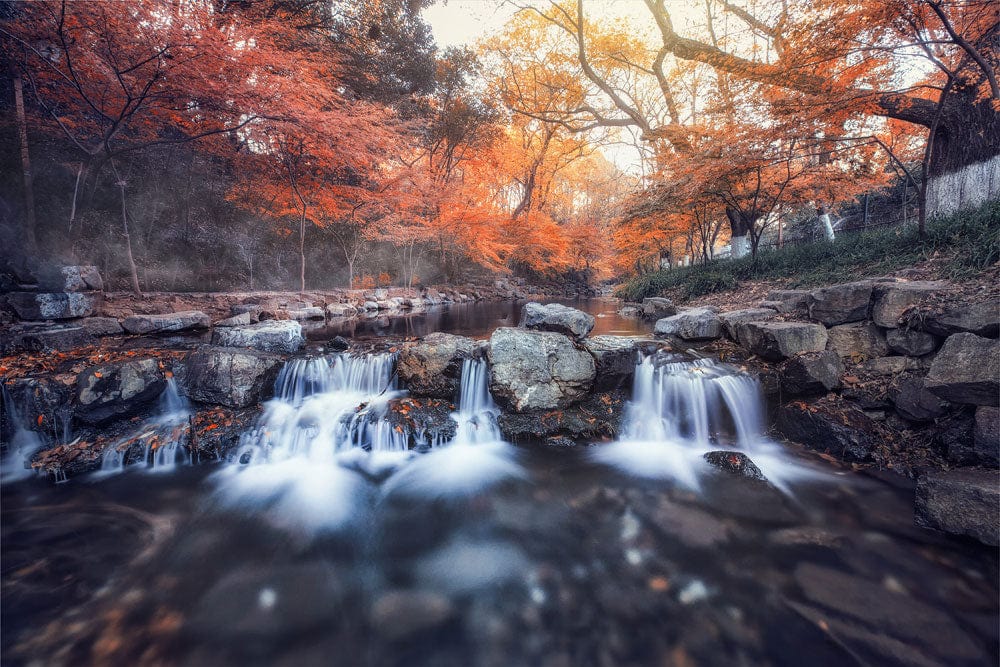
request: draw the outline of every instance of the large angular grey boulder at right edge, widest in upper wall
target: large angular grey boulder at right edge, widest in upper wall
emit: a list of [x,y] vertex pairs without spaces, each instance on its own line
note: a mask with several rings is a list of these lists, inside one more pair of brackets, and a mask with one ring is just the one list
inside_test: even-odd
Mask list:
[[1000,405],[1000,342],[969,333],[949,336],[926,386],[952,403]]

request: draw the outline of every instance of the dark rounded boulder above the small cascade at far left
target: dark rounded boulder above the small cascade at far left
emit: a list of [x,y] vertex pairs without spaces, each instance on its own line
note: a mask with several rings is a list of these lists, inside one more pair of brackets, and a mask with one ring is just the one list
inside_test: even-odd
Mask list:
[[167,386],[156,359],[93,366],[76,379],[76,417],[103,424],[148,407]]

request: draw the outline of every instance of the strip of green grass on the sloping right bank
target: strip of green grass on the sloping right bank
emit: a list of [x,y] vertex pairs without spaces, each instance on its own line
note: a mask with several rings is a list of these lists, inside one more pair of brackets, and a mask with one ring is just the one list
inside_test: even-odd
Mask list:
[[884,275],[935,255],[947,255],[945,277],[974,275],[1000,260],[1000,202],[974,211],[930,220],[921,239],[915,226],[876,229],[838,238],[742,257],[659,271],[633,278],[618,296],[640,301],[667,291],[685,299],[736,289],[749,280],[785,279],[789,287],[847,282]]

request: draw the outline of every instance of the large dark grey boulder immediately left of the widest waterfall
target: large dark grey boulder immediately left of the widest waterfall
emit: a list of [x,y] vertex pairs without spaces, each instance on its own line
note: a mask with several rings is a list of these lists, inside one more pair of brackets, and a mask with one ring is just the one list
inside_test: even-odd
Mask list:
[[184,393],[201,403],[245,408],[269,398],[282,358],[225,347],[202,347],[184,360]]

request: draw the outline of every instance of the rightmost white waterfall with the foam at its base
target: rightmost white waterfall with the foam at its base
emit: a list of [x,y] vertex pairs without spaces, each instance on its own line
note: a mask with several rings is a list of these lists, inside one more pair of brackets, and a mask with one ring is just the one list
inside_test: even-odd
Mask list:
[[764,401],[757,379],[711,359],[658,364],[647,356],[635,369],[632,401],[621,438],[594,459],[624,472],[669,478],[691,489],[709,467],[712,450],[739,450],[779,488],[811,475],[782,455],[764,434]]

